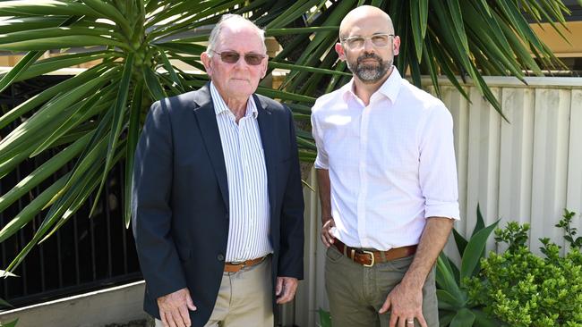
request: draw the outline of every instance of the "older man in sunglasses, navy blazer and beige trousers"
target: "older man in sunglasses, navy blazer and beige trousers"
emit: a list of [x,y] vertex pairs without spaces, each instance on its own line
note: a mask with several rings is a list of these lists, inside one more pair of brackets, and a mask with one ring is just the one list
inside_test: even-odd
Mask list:
[[203,88],[158,101],[133,170],[133,233],[157,326],[272,326],[303,277],[293,118],[254,94],[263,31],[227,15],[201,55]]

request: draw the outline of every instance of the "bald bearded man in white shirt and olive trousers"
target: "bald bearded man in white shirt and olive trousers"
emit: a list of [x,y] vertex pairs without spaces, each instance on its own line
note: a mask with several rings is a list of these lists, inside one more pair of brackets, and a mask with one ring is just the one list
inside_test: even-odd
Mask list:
[[354,78],[312,108],[334,327],[439,325],[434,263],[459,217],[452,118],[392,65],[399,46],[387,13],[348,13],[335,50]]

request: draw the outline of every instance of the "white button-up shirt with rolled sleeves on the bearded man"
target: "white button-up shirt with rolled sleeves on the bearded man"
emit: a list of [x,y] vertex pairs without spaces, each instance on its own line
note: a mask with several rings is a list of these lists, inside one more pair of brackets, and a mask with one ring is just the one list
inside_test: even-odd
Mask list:
[[425,218],[459,219],[452,116],[396,67],[367,106],[353,84],[312,108],[315,167],[330,172],[332,232],[351,247],[418,244]]

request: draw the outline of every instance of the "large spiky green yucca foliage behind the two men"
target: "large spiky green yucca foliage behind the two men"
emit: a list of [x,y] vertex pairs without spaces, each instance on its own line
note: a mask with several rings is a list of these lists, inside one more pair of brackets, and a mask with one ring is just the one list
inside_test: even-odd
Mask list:
[[[102,193],[107,173],[124,162],[124,198],[130,197],[133,150],[150,103],[207,82],[203,74],[176,68],[199,62],[208,27],[222,13],[240,13],[278,39],[281,52],[270,69],[288,70],[280,89],[258,92],[291,107],[300,126],[309,122],[315,96],[338,88],[350,74],[332,50],[338,24],[355,6],[373,4],[387,11],[402,38],[397,65],[415,84],[429,74],[437,92],[445,74],[464,92],[456,76],[470,79],[497,110],[501,107],[483,74],[542,74],[540,63],[555,62],[529,28],[536,21],[563,23],[567,11],[558,0],[34,0],[0,2],[0,50],[26,55],[2,76],[0,90],[41,74],[98,60],[98,64],[47,88],[0,117],[0,128],[21,122],[0,142],[0,177],[35,155],[56,153],[0,197],[0,212],[43,185],[20,213],[2,226],[0,241],[36,215],[44,217],[27,247],[7,267],[12,271],[30,252],[81,208]],[[195,33],[193,33],[195,31]],[[61,54],[40,59],[48,50]],[[307,128],[305,128],[307,130]],[[300,157],[315,155],[310,133],[298,130]],[[55,151],[56,150],[56,151]],[[73,169],[52,184],[47,178],[66,165]],[[44,183],[43,183],[44,182]],[[43,183],[43,184],[41,184]],[[97,201],[96,201],[97,203]],[[91,212],[95,209],[95,205]],[[129,201],[124,221],[130,222]]]

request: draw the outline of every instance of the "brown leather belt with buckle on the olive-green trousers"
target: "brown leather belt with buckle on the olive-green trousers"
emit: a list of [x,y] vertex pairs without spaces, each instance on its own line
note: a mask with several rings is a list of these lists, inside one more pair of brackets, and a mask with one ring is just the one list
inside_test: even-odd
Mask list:
[[393,247],[388,251],[368,251],[357,247],[348,247],[339,239],[333,240],[333,245],[344,256],[352,259],[357,264],[372,267],[374,264],[385,263],[405,256],[412,256],[416,252],[416,246]]

